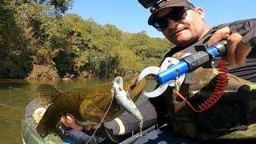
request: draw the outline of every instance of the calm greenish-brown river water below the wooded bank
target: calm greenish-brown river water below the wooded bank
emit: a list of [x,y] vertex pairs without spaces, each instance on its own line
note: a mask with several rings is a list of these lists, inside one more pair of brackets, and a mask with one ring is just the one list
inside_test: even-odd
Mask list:
[[[56,81],[27,81],[0,79],[0,143],[22,143],[21,119],[26,105],[36,98],[36,90],[40,84],[48,83],[65,91],[82,86],[95,86],[110,82],[106,78],[70,79]],[[147,90],[156,85],[149,82]],[[142,95],[140,98],[145,99]]]

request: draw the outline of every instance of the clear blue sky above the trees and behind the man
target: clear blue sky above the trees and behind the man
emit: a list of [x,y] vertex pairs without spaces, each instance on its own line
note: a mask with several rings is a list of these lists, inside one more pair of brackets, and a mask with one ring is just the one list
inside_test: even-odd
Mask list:
[[[206,22],[210,26],[241,19],[256,18],[255,0],[191,0],[194,6],[205,10]],[[150,37],[164,38],[161,32],[147,24],[150,10],[138,0],[74,0],[68,13],[75,13],[84,19],[93,18],[100,25],[107,23],[119,30],[138,33],[146,31]]]

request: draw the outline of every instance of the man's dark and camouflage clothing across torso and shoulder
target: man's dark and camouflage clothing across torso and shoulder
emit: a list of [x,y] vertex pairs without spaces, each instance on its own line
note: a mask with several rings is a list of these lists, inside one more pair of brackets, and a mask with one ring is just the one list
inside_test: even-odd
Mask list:
[[[204,38],[194,43],[194,45],[184,50],[176,46],[166,54],[165,58],[174,57],[179,59],[182,58],[183,54],[194,53],[194,46],[207,42],[211,34],[214,34],[216,30],[223,26],[229,26],[232,33],[242,34],[243,42],[250,44],[250,46],[256,46],[256,19],[242,20],[214,26]],[[218,58],[214,59],[215,64],[218,61]],[[228,67],[228,70],[229,84],[226,86],[224,97],[215,106],[200,114],[194,113],[181,99],[178,100],[174,96],[171,87],[168,87],[161,96],[150,98],[150,102],[157,111],[158,124],[167,123],[170,130],[175,134],[190,138],[244,138],[244,135],[249,131],[250,134],[247,134],[249,136],[246,138],[255,137],[256,139],[256,131],[255,136],[251,133],[251,127],[254,127],[254,123],[256,123],[256,118],[253,118],[255,117],[253,114],[254,104],[252,104],[254,100],[243,98],[246,96],[238,94],[239,87],[246,84],[254,85],[253,82],[256,82],[256,48],[251,50],[245,65]],[[186,80],[182,84],[180,92],[194,106],[197,106],[212,93],[217,74],[218,71],[216,72],[213,68],[200,67],[194,72],[186,74]],[[235,98],[240,98],[240,100],[234,100]],[[237,132],[239,130],[243,130],[242,134]]]

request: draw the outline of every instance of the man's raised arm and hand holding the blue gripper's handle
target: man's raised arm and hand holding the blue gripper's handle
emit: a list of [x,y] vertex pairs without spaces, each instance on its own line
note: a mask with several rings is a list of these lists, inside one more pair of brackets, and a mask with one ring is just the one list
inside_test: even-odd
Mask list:
[[243,65],[246,57],[250,54],[252,47],[255,46],[256,19],[248,19],[229,23],[227,26],[217,30],[208,42],[207,46],[220,42],[222,39],[227,41],[226,60],[230,66]]

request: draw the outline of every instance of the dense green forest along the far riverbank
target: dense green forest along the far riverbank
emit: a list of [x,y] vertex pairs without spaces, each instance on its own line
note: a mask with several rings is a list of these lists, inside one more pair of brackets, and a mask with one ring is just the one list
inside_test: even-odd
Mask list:
[[0,78],[109,78],[158,66],[170,42],[66,14],[72,0],[0,1]]

